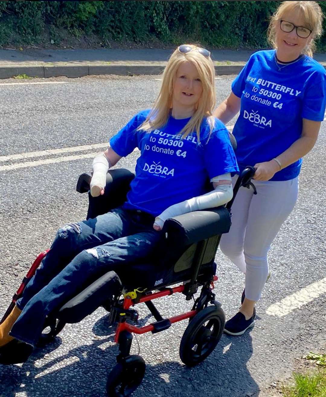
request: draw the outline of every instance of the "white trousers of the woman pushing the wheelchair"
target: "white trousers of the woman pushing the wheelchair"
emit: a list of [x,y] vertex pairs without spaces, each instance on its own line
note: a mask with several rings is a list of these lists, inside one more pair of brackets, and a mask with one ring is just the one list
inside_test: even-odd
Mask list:
[[[233,186],[237,178],[232,178]],[[219,246],[246,274],[246,298],[258,301],[269,272],[267,252],[295,206],[299,177],[252,182],[257,195],[252,187],[240,187],[231,208],[231,229],[222,235]]]

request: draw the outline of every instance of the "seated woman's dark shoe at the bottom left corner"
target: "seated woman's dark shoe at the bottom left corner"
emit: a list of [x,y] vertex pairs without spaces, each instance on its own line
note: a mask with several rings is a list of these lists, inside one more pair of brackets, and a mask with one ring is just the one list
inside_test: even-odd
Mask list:
[[0,347],[0,364],[21,364],[27,361],[32,351],[32,345],[13,339],[6,345]]

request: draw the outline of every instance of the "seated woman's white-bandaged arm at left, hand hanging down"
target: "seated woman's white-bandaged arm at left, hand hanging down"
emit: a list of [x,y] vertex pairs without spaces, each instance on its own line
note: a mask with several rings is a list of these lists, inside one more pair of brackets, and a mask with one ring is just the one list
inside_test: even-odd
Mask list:
[[104,193],[104,188],[107,183],[107,172],[109,168],[113,167],[120,160],[120,158],[121,156],[114,152],[112,148],[107,148],[105,152],[94,158],[92,165],[93,175],[90,183],[91,195],[93,197],[97,197]]

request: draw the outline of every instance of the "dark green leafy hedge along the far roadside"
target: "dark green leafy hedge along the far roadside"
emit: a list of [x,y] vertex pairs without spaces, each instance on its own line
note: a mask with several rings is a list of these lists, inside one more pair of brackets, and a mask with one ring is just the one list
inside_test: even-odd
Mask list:
[[[319,2],[326,14],[325,2]],[[185,40],[215,47],[267,46],[276,1],[0,1],[0,45],[36,43],[44,32],[137,43]],[[324,25],[326,31],[326,22]],[[326,36],[326,35],[325,35]],[[326,48],[326,38],[318,50]]]

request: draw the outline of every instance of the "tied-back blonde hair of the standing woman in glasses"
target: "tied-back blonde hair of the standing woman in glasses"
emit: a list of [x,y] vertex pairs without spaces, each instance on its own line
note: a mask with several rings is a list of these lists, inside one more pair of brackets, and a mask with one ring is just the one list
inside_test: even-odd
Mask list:
[[282,15],[286,12],[297,12],[300,13],[305,21],[305,27],[311,29],[313,32],[312,40],[303,49],[303,53],[313,57],[313,53],[316,50],[315,39],[318,39],[322,35],[322,21],[324,15],[319,4],[315,1],[284,1],[278,6],[278,9],[271,17],[271,21],[268,27],[267,38],[273,48],[276,48],[275,36],[276,36],[276,23],[282,19]]

